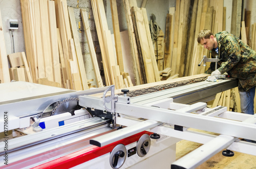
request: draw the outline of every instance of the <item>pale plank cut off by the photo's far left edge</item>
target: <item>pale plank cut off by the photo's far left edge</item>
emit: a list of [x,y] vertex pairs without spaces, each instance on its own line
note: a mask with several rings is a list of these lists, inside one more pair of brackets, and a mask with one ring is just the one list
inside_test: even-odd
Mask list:
[[0,83],[10,82],[3,22],[0,10]]

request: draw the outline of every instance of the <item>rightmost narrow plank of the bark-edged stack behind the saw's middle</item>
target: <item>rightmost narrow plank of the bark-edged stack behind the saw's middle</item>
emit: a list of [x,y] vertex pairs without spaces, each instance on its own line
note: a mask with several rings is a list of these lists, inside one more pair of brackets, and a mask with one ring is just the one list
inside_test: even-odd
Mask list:
[[153,70],[154,70],[155,81],[159,82],[160,81],[160,76],[158,74],[158,67],[157,67],[157,62],[156,62],[156,57],[155,57],[154,46],[153,46],[153,42],[152,42],[152,38],[151,38],[150,27],[149,27],[149,23],[148,23],[148,20],[147,20],[146,9],[141,8],[141,10],[142,10],[143,18],[144,18],[144,23],[145,23],[145,31],[146,31],[148,46],[150,47],[150,56],[151,56],[151,60],[152,60],[152,66],[153,66]]

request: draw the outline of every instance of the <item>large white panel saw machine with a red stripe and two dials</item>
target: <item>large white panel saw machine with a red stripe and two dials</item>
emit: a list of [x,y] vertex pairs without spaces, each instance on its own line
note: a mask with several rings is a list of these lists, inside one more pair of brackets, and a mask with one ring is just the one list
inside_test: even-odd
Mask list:
[[[236,86],[228,78],[130,98],[114,85],[0,84],[0,168],[196,168],[220,151],[256,155],[254,143],[240,140],[256,140],[255,115],[205,103]],[[176,160],[182,139],[203,145]]]

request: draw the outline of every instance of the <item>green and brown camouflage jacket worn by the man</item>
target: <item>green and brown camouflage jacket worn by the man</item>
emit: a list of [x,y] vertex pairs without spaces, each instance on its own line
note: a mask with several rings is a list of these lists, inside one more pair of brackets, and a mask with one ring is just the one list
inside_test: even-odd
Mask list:
[[[211,50],[212,58],[218,55],[218,69],[221,74],[225,72],[239,80],[239,91],[248,91],[256,85],[256,52],[250,46],[244,44],[236,36],[226,31],[216,34],[218,51]],[[206,73],[215,69],[212,62]]]

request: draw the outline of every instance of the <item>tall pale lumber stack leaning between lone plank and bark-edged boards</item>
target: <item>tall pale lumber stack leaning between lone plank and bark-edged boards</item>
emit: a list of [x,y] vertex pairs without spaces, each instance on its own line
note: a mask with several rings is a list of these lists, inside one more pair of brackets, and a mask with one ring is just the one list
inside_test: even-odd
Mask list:
[[[91,0],[93,15],[99,39],[101,57],[104,69],[106,86],[115,85],[115,88],[129,87],[126,81],[130,81],[130,76],[124,76],[123,58],[120,46],[120,31],[117,15],[116,0],[111,1],[112,20],[115,37],[115,51],[111,37],[111,31],[108,28],[103,1]],[[117,58],[115,58],[115,56]],[[131,84],[133,85],[133,84]]]

